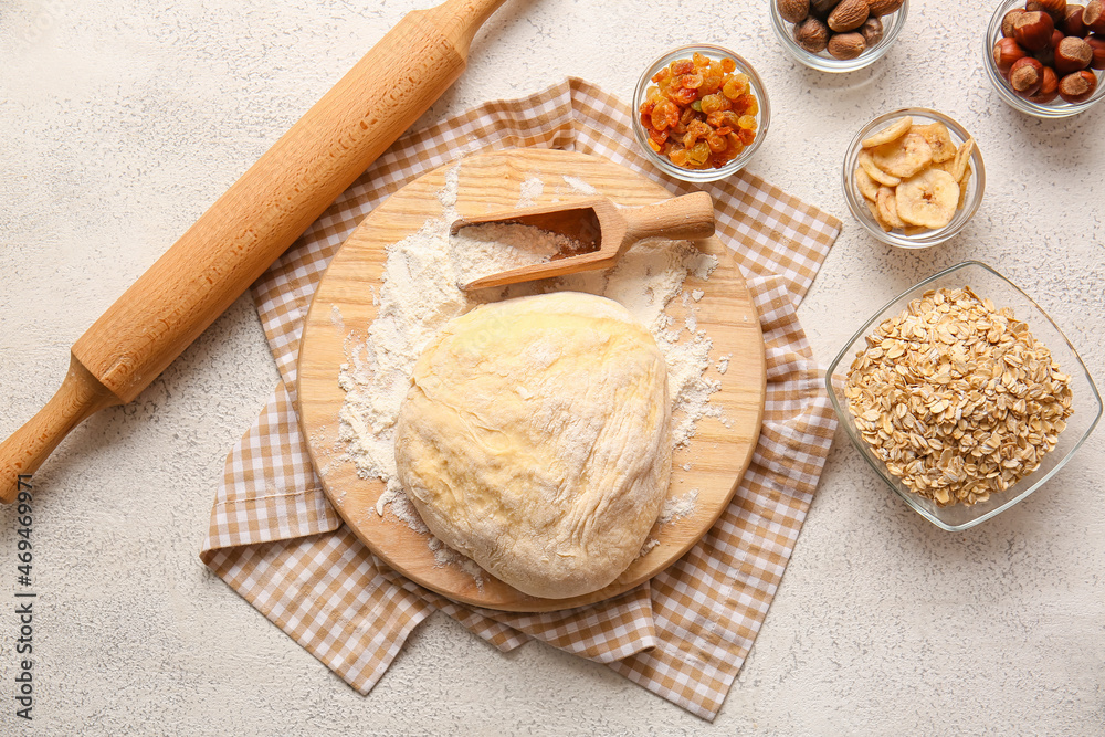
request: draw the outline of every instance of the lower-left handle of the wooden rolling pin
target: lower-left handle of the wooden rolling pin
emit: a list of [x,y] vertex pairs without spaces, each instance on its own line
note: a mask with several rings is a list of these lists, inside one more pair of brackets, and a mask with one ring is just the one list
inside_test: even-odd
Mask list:
[[53,398],[27,424],[0,443],[0,502],[11,504],[19,494],[20,476],[29,476],[70,431],[95,412],[122,404],[75,357]]

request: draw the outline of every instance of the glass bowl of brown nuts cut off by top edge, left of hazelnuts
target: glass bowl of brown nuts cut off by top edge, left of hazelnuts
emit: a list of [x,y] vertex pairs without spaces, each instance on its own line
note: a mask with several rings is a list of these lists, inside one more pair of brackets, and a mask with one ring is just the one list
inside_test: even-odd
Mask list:
[[854,72],[883,57],[908,11],[907,0],[768,0],[782,48],[821,72]]

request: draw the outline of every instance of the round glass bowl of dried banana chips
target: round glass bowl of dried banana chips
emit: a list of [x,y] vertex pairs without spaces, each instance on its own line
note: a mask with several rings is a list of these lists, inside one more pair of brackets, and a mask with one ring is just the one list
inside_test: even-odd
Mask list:
[[975,217],[986,170],[966,128],[937,110],[908,107],[860,128],[844,155],[841,186],[848,209],[876,240],[927,249]]

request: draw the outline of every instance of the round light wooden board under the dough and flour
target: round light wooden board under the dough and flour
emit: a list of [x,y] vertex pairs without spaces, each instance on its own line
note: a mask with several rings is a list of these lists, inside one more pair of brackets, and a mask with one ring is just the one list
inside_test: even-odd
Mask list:
[[[660,572],[690,549],[725,509],[748,467],[759,438],[766,390],[764,338],[756,308],[729,250],[716,238],[699,242],[702,251],[717,256],[718,265],[708,280],[688,275],[683,287],[687,293],[704,293],[699,301],[688,304],[698,328],[713,340],[707,373],[720,380],[722,388],[711,397],[711,403],[722,408],[725,422],[703,418],[690,448],[678,449],[673,455],[669,496],[678,498],[697,489],[692,515],[653,528],[650,538],[657,539],[659,545],[638,558],[613,583],[587,596],[539,599],[491,576],[484,576],[482,585],[477,585],[459,566],[438,564],[428,535],[415,533],[390,513],[382,517],[377,514],[381,481],[360,478],[351,462],[336,460],[341,448],[338,412],[345,400],[338,372],[348,360],[347,338],[354,333],[364,340],[376,318],[372,297],[383,273],[385,248],[413,233],[428,219],[442,217],[438,192],[445,186],[446,171],[454,166],[420,177],[373,210],[338,250],[318,285],[303,328],[297,369],[299,422],[312,462],[335,508],[373,552],[411,580],[450,599],[491,609],[550,611],[617,596]],[[534,177],[544,182],[544,193],[534,204],[582,197],[573,193],[565,176],[586,181],[622,206],[671,197],[659,185],[611,161],[568,151],[496,151],[467,157],[460,166],[456,209],[462,217],[515,207],[523,182]],[[675,318],[673,325],[683,325],[687,306],[672,299],[666,312]],[[341,316],[337,325],[335,314]],[[723,375],[717,365],[726,356],[732,360]]]

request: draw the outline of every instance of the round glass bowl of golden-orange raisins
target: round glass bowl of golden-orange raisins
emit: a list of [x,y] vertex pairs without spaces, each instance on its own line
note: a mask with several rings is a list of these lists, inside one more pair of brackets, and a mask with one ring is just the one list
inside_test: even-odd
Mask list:
[[771,122],[753,65],[706,43],[673,49],[650,64],[636,84],[633,112],[645,156],[672,177],[696,182],[743,169]]

